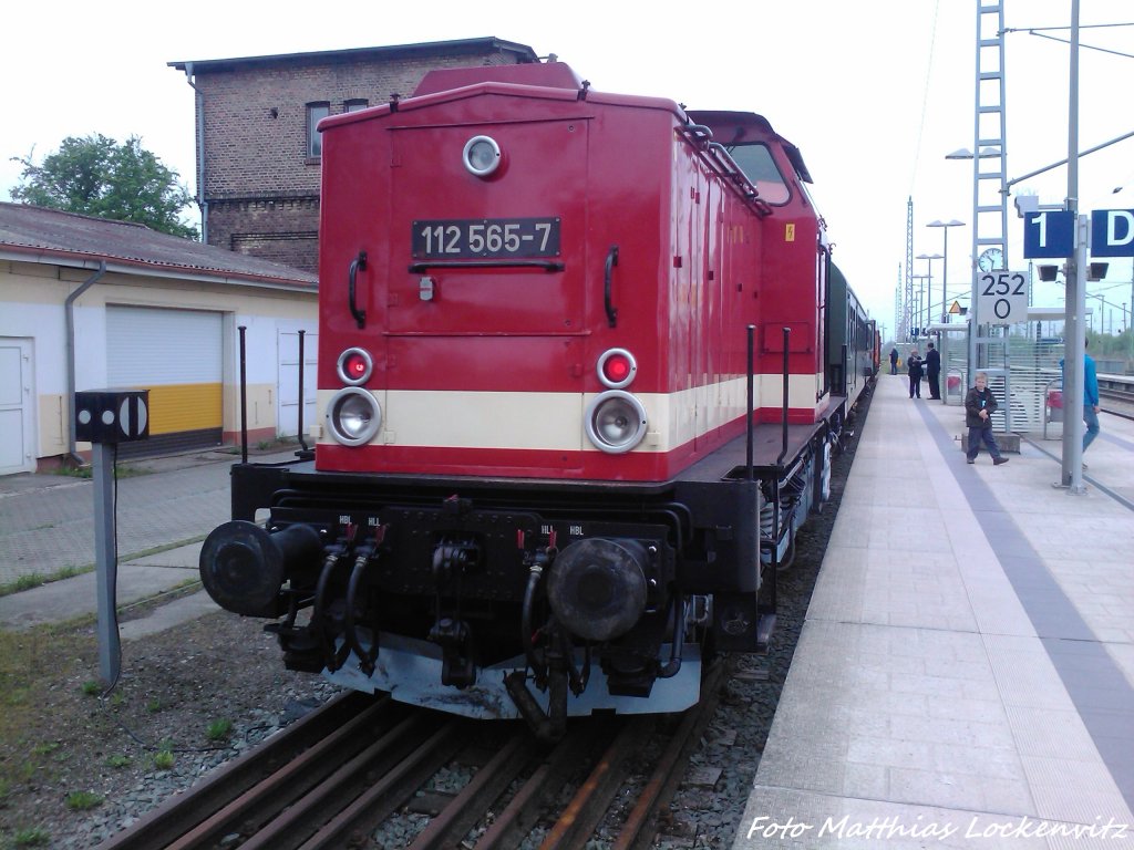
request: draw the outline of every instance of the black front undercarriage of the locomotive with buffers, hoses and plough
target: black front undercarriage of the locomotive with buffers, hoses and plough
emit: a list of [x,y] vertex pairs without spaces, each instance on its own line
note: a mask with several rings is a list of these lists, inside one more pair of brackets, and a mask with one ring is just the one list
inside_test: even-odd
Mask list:
[[[206,541],[205,586],[277,620],[287,666],[355,689],[524,716],[553,738],[568,715],[688,707],[706,645],[767,639],[753,481],[423,483],[242,465],[232,493],[239,519]],[[270,505],[263,527],[256,505]]]

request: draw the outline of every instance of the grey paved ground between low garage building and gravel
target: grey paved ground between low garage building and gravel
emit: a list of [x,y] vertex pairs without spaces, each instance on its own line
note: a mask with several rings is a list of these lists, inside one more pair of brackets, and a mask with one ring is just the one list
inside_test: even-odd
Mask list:
[[[249,460],[287,460],[293,451]],[[130,604],[197,579],[201,542],[229,519],[229,469],[239,456],[204,451],[129,460],[118,481],[118,602]],[[64,475],[0,477],[0,585],[93,567],[94,484]],[[217,610],[204,592],[122,624],[124,639]],[[0,596],[0,628],[29,628],[96,611],[93,571]]]

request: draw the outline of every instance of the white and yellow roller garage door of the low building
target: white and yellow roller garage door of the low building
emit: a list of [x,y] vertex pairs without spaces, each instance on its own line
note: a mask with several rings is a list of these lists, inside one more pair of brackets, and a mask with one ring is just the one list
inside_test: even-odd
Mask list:
[[154,307],[107,307],[110,386],[150,390],[150,439],[126,454],[219,445],[222,409],[222,314]]

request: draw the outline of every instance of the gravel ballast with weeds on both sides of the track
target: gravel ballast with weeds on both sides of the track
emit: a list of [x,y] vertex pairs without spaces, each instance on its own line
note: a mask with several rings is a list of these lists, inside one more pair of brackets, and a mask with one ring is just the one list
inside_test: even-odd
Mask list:
[[[735,840],[849,473],[849,442],[835,459],[831,502],[801,529],[780,573],[771,653],[736,660],[659,847]],[[120,681],[104,695],[93,682],[93,624],[0,634],[0,850],[96,847],[336,692],[285,670],[262,626],[219,612],[124,643]]]

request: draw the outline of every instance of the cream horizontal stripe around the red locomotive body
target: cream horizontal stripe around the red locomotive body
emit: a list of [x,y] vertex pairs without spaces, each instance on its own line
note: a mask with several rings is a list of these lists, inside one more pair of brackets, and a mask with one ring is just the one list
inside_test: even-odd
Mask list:
[[[779,407],[782,376],[758,375],[755,405]],[[792,375],[793,409],[814,409],[818,375]],[[337,391],[319,391],[319,442],[333,443],[324,416]],[[596,393],[379,390],[382,426],[371,444],[456,449],[598,451],[584,417]],[[744,377],[675,393],[632,393],[645,407],[648,431],[636,451],[667,452],[744,415]],[[693,402],[696,401],[696,411]]]

